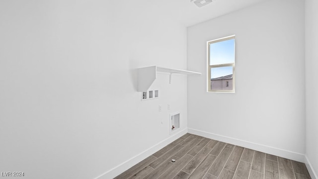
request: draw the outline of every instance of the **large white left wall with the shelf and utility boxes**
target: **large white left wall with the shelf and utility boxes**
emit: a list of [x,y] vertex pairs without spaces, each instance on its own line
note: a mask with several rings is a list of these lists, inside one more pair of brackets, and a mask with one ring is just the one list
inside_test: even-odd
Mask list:
[[1,172],[112,178],[173,139],[170,112],[181,112],[186,132],[186,77],[169,85],[159,75],[151,87],[159,99],[141,102],[136,90],[136,68],[186,68],[186,28],[161,8],[148,0],[0,1]]

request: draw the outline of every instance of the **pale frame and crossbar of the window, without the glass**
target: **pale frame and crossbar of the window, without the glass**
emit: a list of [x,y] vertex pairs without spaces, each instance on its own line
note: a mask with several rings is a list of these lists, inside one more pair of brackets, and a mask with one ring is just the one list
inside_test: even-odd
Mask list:
[[[207,81],[208,81],[208,87],[207,91],[208,92],[230,92],[230,93],[235,93],[235,59],[234,63],[226,63],[226,64],[219,64],[219,65],[210,65],[210,45],[213,43],[221,42],[221,41],[226,41],[226,40],[231,40],[234,39],[234,57],[235,57],[235,35],[231,35],[228,37],[223,37],[215,40],[211,40],[207,42]],[[232,85],[233,88],[232,90],[227,90],[227,89],[211,89],[211,69],[212,68],[218,68],[218,67],[233,67],[233,79],[232,79]]]

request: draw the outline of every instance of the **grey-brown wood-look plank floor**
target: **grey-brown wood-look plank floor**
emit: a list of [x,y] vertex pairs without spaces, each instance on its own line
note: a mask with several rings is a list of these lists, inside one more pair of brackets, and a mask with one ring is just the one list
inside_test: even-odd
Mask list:
[[115,179],[311,177],[303,163],[187,133]]

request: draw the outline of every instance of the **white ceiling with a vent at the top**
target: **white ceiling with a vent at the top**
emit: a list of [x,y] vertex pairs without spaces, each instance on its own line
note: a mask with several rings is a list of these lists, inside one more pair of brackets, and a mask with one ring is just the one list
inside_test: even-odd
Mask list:
[[155,3],[163,7],[161,9],[171,18],[191,26],[262,1],[265,0],[215,0],[203,7],[196,6],[190,0],[159,0]]

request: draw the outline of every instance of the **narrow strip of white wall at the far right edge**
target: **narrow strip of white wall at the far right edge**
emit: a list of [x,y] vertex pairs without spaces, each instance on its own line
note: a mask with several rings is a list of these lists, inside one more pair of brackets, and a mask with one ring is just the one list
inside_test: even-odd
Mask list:
[[311,176],[318,179],[318,2],[305,0],[306,23],[306,157]]

